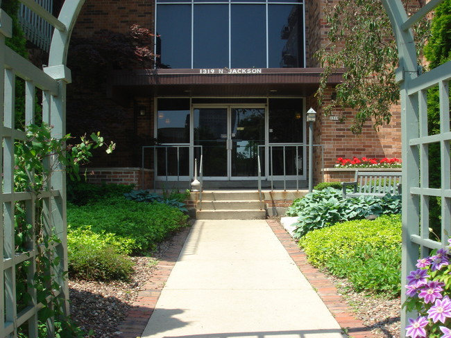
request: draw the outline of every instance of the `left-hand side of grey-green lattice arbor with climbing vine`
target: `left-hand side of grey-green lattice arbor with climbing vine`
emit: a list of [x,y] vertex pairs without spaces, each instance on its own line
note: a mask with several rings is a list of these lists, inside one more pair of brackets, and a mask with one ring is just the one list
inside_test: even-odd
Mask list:
[[[66,181],[62,166],[54,172],[49,184],[38,193],[28,191],[15,191],[14,175],[15,161],[14,148],[16,141],[24,141],[26,134],[15,129],[15,82],[22,78],[25,85],[25,121],[33,123],[35,118],[35,99],[40,91],[42,97],[42,121],[52,125],[52,134],[61,138],[65,134],[65,100],[66,85],[70,82],[71,75],[66,67],[67,49],[72,28],[76,22],[78,13],[84,0],[65,1],[58,19],[44,10],[34,0],[20,0],[33,12],[45,21],[48,21],[55,29],[50,48],[49,66],[44,70],[35,67],[31,62],[12,51],[5,45],[6,37],[12,35],[12,20],[6,12],[0,12],[0,107],[3,127],[0,129],[2,148],[0,158],[3,159],[1,192],[1,204],[3,205],[3,217],[0,219],[0,251],[3,251],[3,260],[0,263],[0,284],[4,285],[0,293],[0,337],[17,337],[19,326],[28,326],[28,337],[37,337],[37,312],[42,308],[42,303],[37,301],[37,293],[34,287],[28,287],[30,299],[28,304],[17,310],[17,276],[16,267],[27,264],[28,281],[33,283],[33,275],[36,271],[36,258],[42,249],[40,243],[35,242],[32,235],[26,242],[25,252],[16,252],[15,244],[15,206],[25,206],[26,222],[33,226],[35,233],[35,203],[37,199],[42,201],[44,235],[56,234],[60,239],[59,244],[54,244],[54,255],[59,256],[59,264],[55,271],[51,272],[59,279],[62,285],[54,294],[62,299],[68,297],[67,282],[62,279],[62,272],[67,271],[67,226],[66,226]],[[0,1],[1,3],[1,1]],[[44,163],[48,165],[48,163]],[[58,170],[59,169],[59,170]],[[63,312],[69,312],[67,301],[64,302]],[[53,335],[53,321],[48,323],[49,336]]]

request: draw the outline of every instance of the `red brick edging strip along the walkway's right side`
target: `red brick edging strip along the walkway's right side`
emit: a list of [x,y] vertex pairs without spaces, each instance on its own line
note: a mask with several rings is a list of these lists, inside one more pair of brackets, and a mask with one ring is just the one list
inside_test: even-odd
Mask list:
[[361,320],[355,318],[351,308],[337,292],[337,287],[325,274],[307,262],[305,253],[299,249],[298,244],[291,238],[291,235],[287,233],[280,222],[277,220],[266,220],[266,223],[269,224],[273,233],[300,269],[300,272],[314,287],[327,309],[339,323],[339,326],[346,330],[348,336],[352,338],[376,338],[370,328],[367,328]]

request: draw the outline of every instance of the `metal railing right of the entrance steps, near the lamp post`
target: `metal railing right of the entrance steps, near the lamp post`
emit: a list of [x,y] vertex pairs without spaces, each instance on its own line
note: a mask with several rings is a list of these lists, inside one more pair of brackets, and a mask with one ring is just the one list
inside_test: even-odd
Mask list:
[[[275,176],[283,176],[283,186],[284,186],[284,190],[287,190],[287,176],[291,177],[296,177],[296,190],[299,190],[299,170],[302,169],[302,163],[301,162],[301,166],[299,166],[299,156],[300,154],[304,154],[304,148],[308,148],[309,145],[304,144],[304,143],[298,143],[298,144],[288,144],[288,143],[277,143],[277,144],[270,144],[270,145],[259,145],[259,152],[257,155],[257,170],[258,170],[258,191],[259,191],[259,195],[260,195],[260,199],[262,198],[262,163],[260,161],[260,148],[263,148],[264,150],[266,150],[266,148],[268,148],[268,155],[269,155],[269,175],[266,175],[267,177],[270,177],[271,179],[271,190],[274,189],[274,177]],[[324,159],[323,159],[323,151],[322,151],[322,147],[323,145],[321,144],[314,144],[313,147],[319,147],[321,148],[321,168],[323,168],[323,163],[324,163]],[[283,163],[283,175],[274,175],[274,148],[279,148],[282,150],[282,163]],[[296,150],[296,155],[294,157],[294,161],[296,164],[296,175],[288,175],[287,174],[287,149],[291,149],[291,148],[295,148]],[[301,148],[301,150],[299,150],[299,148]],[[303,158],[303,157],[301,157]],[[307,163],[308,166],[311,165],[311,163]]]

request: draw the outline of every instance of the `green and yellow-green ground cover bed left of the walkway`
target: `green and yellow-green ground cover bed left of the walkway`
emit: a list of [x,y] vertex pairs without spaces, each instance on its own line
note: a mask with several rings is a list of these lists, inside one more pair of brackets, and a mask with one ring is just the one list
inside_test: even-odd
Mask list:
[[[121,184],[69,184],[67,242],[71,278],[128,281],[128,255],[146,255],[187,226],[187,193],[167,197]],[[136,199],[126,196],[140,197]],[[147,203],[140,203],[147,202]]]

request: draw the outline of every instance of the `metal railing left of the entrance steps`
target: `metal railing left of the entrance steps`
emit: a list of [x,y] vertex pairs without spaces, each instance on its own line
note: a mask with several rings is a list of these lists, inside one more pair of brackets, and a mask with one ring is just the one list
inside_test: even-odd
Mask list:
[[[176,149],[176,157],[177,157],[177,181],[180,182],[180,149],[181,148],[187,148],[189,150],[189,152],[191,153],[192,151],[194,151],[194,148],[199,148],[201,150],[201,162],[200,162],[200,166],[199,166],[199,177],[201,178],[201,188],[200,191],[202,191],[202,184],[203,184],[203,176],[202,176],[202,168],[203,168],[203,149],[202,149],[202,145],[144,145],[142,146],[142,168],[146,168],[146,149],[153,149],[153,167],[154,167],[154,172],[153,172],[153,189],[156,190],[156,183],[157,183],[157,176],[165,176],[166,177],[166,181],[169,181],[169,177],[170,176],[174,176],[174,175],[169,175],[169,167],[168,167],[168,163],[169,163],[169,154],[168,154],[168,150],[169,149]],[[158,175],[158,162],[157,162],[157,152],[158,149],[164,149],[164,173],[165,175]],[[187,168],[189,170],[189,164],[187,164]],[[191,176],[190,173],[188,172],[187,175],[183,175],[183,176]],[[188,189],[191,188],[191,177],[188,180]]]

